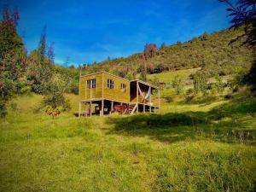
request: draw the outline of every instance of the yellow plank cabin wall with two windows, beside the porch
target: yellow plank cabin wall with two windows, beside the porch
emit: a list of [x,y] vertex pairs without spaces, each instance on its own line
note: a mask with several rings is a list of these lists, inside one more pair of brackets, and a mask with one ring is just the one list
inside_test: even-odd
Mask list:
[[[118,102],[130,102],[130,82],[125,79],[120,79],[108,73],[103,73],[104,86],[103,97],[108,100],[114,100]],[[113,89],[108,88],[108,79],[113,80]],[[121,83],[126,84],[126,91],[121,90]]]

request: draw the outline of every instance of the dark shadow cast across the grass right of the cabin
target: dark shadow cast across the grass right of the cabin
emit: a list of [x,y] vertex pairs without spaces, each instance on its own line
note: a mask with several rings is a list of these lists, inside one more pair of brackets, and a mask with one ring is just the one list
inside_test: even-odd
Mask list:
[[175,143],[185,139],[212,139],[224,143],[253,144],[256,130],[256,99],[230,102],[211,111],[139,114],[109,118],[109,134],[150,137],[160,142]]

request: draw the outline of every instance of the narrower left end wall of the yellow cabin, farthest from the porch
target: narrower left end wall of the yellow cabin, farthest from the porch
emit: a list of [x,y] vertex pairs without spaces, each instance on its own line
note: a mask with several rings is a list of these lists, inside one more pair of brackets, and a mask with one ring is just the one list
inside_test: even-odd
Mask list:
[[[96,88],[87,88],[87,80],[96,79]],[[90,94],[91,91],[91,94]],[[80,78],[79,96],[81,100],[102,98],[102,73],[96,73]]]

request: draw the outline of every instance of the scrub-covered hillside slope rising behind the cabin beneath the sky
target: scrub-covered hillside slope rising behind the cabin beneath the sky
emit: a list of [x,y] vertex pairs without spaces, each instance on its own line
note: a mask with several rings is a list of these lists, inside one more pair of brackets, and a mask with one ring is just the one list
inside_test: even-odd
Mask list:
[[224,30],[221,32],[204,33],[188,42],[162,45],[146,61],[143,53],[127,58],[102,61],[84,67],[83,73],[107,71],[121,77],[134,79],[139,77],[144,62],[148,73],[159,73],[185,68],[201,67],[209,76],[226,75],[248,70],[253,61],[253,50],[242,46],[243,39],[230,44],[230,40],[241,34],[241,30]]

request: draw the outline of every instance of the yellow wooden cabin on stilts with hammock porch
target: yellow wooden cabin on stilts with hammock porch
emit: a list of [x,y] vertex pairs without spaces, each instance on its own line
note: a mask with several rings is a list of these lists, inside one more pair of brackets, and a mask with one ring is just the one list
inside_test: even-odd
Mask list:
[[[158,98],[153,92],[158,90]],[[141,80],[122,79],[99,72],[80,76],[79,116],[92,114],[156,112],[160,108],[159,89]],[[81,113],[82,104],[88,106]]]

